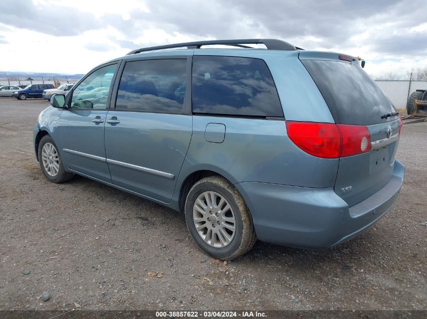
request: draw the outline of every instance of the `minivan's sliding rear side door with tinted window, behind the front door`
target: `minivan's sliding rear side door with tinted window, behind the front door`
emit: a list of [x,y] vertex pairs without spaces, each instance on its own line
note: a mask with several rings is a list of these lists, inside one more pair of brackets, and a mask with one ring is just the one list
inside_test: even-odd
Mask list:
[[[112,182],[169,203],[192,136],[186,58],[128,61],[105,124]],[[184,102],[185,101],[185,102]]]

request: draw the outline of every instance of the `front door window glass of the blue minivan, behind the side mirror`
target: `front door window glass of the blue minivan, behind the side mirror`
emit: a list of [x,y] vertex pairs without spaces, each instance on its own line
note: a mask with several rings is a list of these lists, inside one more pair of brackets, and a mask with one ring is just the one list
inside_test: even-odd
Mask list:
[[73,91],[71,109],[105,109],[108,92],[117,65],[109,65],[91,73]]

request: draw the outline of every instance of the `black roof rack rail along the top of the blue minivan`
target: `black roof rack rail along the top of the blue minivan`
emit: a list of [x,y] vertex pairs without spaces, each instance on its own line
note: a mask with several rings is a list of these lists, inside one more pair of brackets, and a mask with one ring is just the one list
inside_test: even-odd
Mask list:
[[200,49],[202,45],[212,45],[212,44],[221,44],[221,45],[230,45],[243,48],[251,48],[251,46],[243,44],[264,44],[268,50],[297,50],[301,49],[295,47],[294,45],[277,39],[234,39],[234,40],[207,40],[207,41],[196,41],[196,42],[183,42],[175,44],[166,44],[159,46],[151,46],[146,48],[135,49],[127,53],[126,55],[136,54],[146,51],[162,50],[162,49],[171,49],[186,47],[187,49]]

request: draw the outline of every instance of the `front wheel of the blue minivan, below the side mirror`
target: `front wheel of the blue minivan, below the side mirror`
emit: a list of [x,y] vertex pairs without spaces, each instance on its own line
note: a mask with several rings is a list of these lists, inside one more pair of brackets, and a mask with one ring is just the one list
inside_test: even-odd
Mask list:
[[43,136],[38,144],[38,161],[44,176],[53,183],[63,183],[73,178],[72,173],[65,171],[58,148],[49,135]]

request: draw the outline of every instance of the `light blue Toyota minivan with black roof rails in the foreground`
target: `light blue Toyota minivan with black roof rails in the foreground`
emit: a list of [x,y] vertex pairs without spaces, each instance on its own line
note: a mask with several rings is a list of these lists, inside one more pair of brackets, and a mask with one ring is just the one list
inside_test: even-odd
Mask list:
[[79,174],[182,212],[231,260],[257,239],[322,249],[374,224],[402,186],[401,127],[352,56],[215,40],[94,68],[40,113],[34,149],[50,181]]

